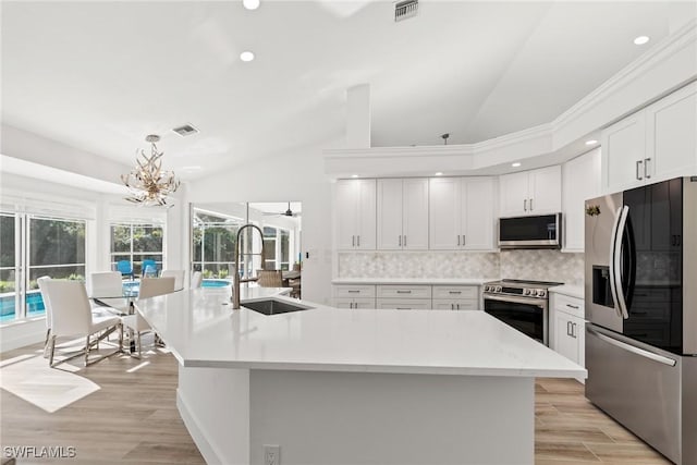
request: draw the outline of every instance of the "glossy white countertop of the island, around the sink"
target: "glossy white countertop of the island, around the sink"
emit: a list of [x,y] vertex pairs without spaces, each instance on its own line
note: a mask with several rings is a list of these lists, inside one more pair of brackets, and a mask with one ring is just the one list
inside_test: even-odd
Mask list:
[[[244,301],[279,290],[243,291]],[[302,302],[316,308],[265,316],[233,310],[229,298],[229,289],[186,290],[138,301],[137,308],[187,367],[586,376],[484,311],[338,309]]]

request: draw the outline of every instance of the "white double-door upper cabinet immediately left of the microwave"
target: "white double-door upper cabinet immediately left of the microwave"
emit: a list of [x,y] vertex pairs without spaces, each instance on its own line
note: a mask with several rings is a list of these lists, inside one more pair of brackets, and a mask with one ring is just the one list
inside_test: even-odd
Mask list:
[[429,181],[430,248],[494,248],[492,178],[432,178]]

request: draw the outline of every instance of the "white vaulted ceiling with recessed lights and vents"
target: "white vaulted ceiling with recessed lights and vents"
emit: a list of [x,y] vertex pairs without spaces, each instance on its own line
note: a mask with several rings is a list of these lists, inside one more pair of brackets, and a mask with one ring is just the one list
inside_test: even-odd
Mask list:
[[126,164],[160,134],[186,180],[341,138],[369,83],[374,146],[481,142],[553,120],[695,4],[421,0],[394,23],[391,1],[3,1],[2,120]]

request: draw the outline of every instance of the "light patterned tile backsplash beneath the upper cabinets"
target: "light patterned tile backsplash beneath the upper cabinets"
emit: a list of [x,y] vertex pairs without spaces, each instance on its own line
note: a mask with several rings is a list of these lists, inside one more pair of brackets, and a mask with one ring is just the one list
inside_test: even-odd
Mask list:
[[511,278],[582,284],[584,255],[559,250],[339,253],[338,278]]

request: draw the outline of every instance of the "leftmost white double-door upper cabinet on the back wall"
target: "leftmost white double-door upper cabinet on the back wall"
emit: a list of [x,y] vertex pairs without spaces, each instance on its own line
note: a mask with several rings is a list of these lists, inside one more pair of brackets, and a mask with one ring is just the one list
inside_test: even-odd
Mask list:
[[375,249],[375,180],[337,181],[337,247]]

